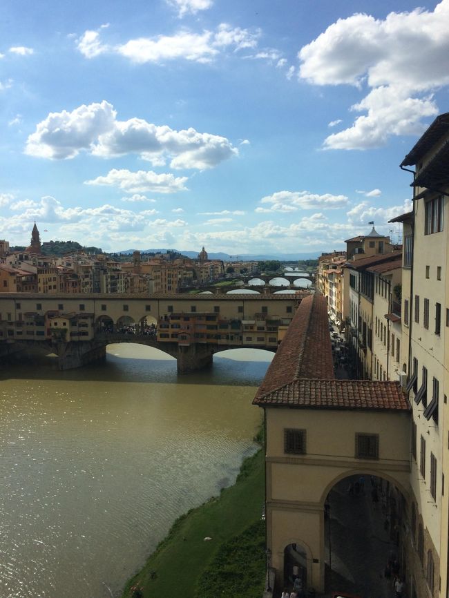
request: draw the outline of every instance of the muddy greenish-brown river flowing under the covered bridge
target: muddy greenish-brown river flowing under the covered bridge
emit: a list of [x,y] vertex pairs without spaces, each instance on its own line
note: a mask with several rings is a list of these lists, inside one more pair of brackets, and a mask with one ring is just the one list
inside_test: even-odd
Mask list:
[[251,401],[272,356],[227,351],[178,377],[157,349],[111,345],[84,369],[43,356],[1,369],[1,598],[120,595],[256,450]]

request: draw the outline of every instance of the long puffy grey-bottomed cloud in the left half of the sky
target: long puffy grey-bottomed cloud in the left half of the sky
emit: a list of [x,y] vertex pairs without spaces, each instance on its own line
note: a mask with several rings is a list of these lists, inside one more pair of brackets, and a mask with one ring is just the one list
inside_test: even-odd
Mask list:
[[175,131],[144,119],[117,120],[113,106],[103,102],[82,105],[72,112],[50,113],[26,142],[26,153],[53,160],[73,158],[80,151],[101,157],[139,153],[153,166],[171,157],[172,168],[217,166],[238,155],[229,139],[194,128]]

